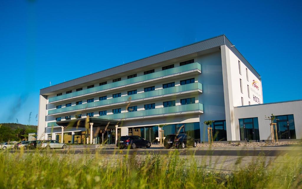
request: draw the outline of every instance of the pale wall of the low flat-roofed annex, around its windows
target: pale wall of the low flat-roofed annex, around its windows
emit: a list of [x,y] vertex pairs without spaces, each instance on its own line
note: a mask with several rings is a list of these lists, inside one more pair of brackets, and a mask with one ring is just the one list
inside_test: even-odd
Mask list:
[[293,114],[296,137],[297,139],[301,139],[302,138],[301,112],[302,112],[302,100],[236,107],[234,108],[235,128],[238,131],[236,132],[238,133],[236,138],[239,138],[238,119],[258,117],[260,140],[267,140],[271,138],[271,134],[270,134],[271,131],[269,125],[270,120],[266,120],[265,116],[271,116],[271,114],[274,114],[275,116]]

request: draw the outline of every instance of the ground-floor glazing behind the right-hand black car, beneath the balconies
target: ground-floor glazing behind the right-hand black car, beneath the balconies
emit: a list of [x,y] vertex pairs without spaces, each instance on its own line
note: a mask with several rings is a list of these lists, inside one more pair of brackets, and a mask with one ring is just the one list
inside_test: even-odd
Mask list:
[[162,130],[164,130],[164,136],[185,133],[196,140],[200,140],[199,122],[165,125],[162,127]]

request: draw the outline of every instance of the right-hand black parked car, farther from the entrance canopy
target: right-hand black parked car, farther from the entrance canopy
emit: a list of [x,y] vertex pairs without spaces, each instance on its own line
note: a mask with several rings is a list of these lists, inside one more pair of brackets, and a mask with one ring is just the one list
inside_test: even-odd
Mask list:
[[164,140],[165,148],[185,148],[186,146],[197,146],[197,140],[187,134],[167,135]]

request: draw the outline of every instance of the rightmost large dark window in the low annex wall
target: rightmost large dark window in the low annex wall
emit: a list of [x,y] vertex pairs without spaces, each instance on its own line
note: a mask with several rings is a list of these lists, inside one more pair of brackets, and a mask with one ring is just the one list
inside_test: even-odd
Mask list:
[[278,139],[296,139],[294,115],[275,116],[275,119]]

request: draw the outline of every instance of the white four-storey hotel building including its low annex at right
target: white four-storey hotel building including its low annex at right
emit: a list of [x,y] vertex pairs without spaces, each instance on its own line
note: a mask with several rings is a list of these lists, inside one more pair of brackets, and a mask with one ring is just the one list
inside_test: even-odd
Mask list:
[[38,139],[114,144],[140,135],[156,143],[164,130],[207,141],[203,122],[213,120],[216,141],[267,140],[272,113],[278,137],[295,139],[301,107],[263,104],[259,73],[221,35],[41,89]]

